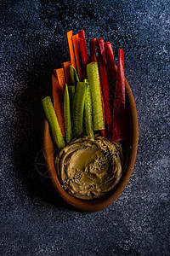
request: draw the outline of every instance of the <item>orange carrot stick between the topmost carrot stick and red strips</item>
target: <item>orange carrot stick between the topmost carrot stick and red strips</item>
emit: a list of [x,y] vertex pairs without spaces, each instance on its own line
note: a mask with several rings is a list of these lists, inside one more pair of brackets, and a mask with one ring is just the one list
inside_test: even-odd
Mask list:
[[75,55],[76,55],[76,61],[77,61],[77,71],[78,71],[78,76],[80,81],[82,81],[83,76],[82,76],[82,60],[81,60],[81,55],[78,47],[78,34],[72,36],[73,40],[73,45],[74,45],[74,50],[75,50]]

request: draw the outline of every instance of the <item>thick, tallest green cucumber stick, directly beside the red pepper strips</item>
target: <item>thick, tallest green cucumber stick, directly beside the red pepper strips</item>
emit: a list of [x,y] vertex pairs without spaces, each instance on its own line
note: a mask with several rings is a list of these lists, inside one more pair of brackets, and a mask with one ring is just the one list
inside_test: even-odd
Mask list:
[[87,65],[87,76],[92,93],[94,131],[104,130],[105,125],[103,120],[103,108],[99,85],[99,69],[97,62],[91,62]]

